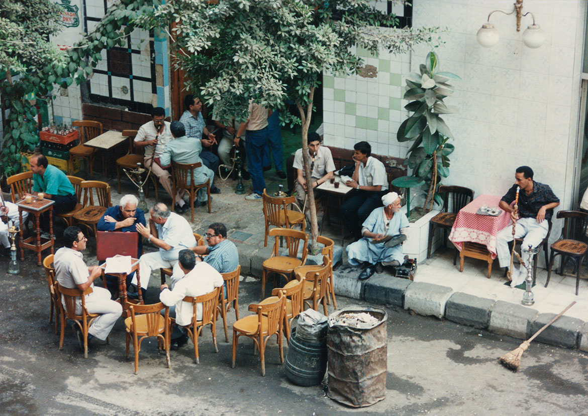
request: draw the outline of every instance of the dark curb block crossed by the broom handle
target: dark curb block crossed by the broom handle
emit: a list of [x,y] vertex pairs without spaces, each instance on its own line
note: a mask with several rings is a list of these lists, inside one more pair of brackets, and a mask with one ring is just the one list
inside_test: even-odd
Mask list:
[[[531,333],[537,332],[541,327],[556,316],[554,313],[540,313],[533,322]],[[576,348],[580,333],[580,327],[584,321],[569,316],[562,316],[552,323],[546,330],[537,336],[536,340],[544,344],[559,347]]]

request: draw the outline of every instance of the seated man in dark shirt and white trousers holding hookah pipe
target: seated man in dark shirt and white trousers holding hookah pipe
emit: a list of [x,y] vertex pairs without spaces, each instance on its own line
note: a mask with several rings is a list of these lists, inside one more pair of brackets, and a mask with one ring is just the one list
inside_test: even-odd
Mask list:
[[[510,207],[516,198],[516,188],[519,191],[519,209],[515,211]],[[528,166],[520,166],[515,171],[515,184],[510,187],[505,196],[500,199],[499,207],[510,212],[510,218],[516,222],[515,238],[523,238],[522,248],[533,248],[539,245],[549,231],[549,219],[553,216],[553,208],[559,205],[557,198],[549,185],[533,181],[533,170]],[[509,241],[513,240],[512,224],[507,225],[496,234],[496,255],[500,267],[510,270]],[[529,257],[521,256],[524,262]],[[512,270],[510,270],[512,272]],[[523,283],[527,276],[527,270],[521,266],[518,272],[511,275],[510,286],[514,287]]]

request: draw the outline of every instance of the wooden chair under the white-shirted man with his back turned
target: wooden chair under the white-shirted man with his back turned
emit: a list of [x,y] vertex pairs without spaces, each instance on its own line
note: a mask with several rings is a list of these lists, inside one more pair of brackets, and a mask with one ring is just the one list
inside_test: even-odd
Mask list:
[[[193,307],[192,322],[183,327],[188,331],[188,335],[194,344],[196,364],[200,363],[200,357],[198,355],[198,337],[206,325],[211,326],[212,344],[215,347],[215,353],[218,353],[219,351],[219,348],[216,345],[216,308],[219,302],[219,291],[222,293],[222,287],[215,288],[212,292],[206,293],[206,295],[196,297],[186,296],[183,298],[184,302],[191,302]],[[202,305],[201,320],[198,320],[198,316],[196,315],[196,310],[199,305]],[[172,322],[175,322],[175,319],[172,318]]]

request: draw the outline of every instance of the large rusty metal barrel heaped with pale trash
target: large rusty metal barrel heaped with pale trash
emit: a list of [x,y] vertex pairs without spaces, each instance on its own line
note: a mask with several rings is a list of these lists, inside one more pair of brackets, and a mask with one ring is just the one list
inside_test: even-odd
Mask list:
[[[353,323],[355,317],[360,321]],[[383,309],[362,305],[350,305],[329,315],[330,398],[365,407],[386,397],[387,317]]]

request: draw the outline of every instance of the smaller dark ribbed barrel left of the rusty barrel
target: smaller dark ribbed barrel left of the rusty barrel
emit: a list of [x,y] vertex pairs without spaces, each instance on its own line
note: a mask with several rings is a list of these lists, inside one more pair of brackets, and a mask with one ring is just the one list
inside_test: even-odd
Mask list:
[[320,384],[327,369],[326,337],[313,341],[296,336],[292,328],[290,346],[286,355],[286,377],[294,384],[309,386]]

